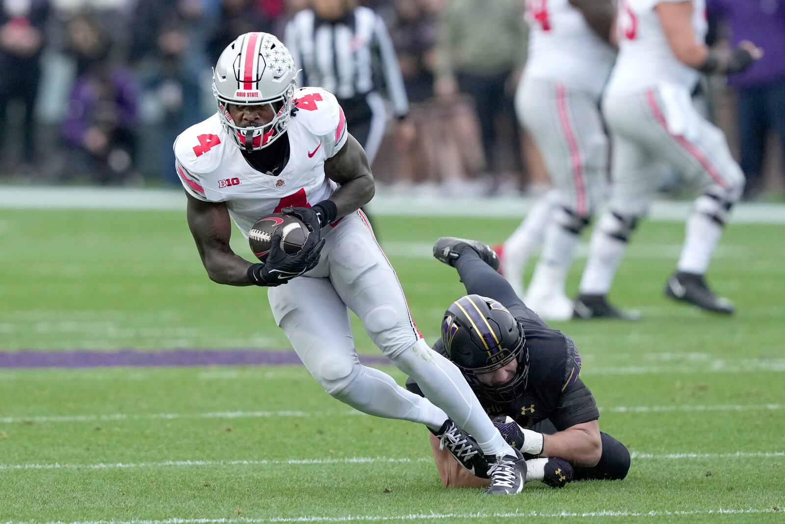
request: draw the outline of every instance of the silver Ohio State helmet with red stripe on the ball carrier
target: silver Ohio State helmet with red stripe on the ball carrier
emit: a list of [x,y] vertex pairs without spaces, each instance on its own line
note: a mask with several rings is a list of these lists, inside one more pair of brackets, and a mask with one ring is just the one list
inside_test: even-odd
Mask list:
[[[289,125],[297,71],[283,44],[269,33],[246,33],[229,44],[213,69],[213,95],[224,129],[243,151],[259,151]],[[269,104],[273,119],[261,126],[237,126],[227,104]]]

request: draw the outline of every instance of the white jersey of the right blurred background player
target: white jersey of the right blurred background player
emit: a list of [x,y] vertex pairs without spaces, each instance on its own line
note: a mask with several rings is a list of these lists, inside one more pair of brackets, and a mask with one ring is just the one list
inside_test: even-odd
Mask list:
[[[665,37],[655,6],[685,0],[621,0],[619,2],[619,57],[608,85],[609,94],[639,93],[662,84],[692,90],[699,79],[695,69],[682,64]],[[705,0],[692,0],[692,29],[703,42],[708,24]]]

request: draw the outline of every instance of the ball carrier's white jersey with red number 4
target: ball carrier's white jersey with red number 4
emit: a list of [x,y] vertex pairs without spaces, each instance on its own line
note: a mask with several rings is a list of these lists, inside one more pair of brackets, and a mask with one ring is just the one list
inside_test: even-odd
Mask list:
[[289,161],[277,175],[250,166],[217,113],[174,141],[175,168],[185,190],[199,200],[225,202],[246,237],[259,218],[283,207],[313,205],[338,187],[325,175],[324,161],[349,137],[343,109],[319,87],[296,90],[294,101],[298,111],[287,127]]

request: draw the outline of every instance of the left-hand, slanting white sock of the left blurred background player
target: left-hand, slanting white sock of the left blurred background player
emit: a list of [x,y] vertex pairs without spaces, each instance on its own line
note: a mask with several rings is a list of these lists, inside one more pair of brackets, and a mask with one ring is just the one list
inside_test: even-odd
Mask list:
[[521,279],[526,261],[531,253],[542,244],[542,237],[550,221],[558,193],[547,192],[540,198],[520,222],[518,228],[504,242],[502,273],[518,296],[524,295]]

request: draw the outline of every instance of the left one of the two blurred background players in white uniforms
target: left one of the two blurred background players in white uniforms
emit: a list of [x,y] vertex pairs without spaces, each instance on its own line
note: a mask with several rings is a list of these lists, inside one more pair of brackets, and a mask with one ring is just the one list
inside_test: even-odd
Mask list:
[[529,57],[516,110],[542,153],[554,191],[504,243],[502,273],[523,297],[521,273],[542,239],[524,301],[546,320],[572,317],[564,281],[606,188],[608,137],[600,97],[615,56],[609,42],[614,17],[614,0],[528,0]]

